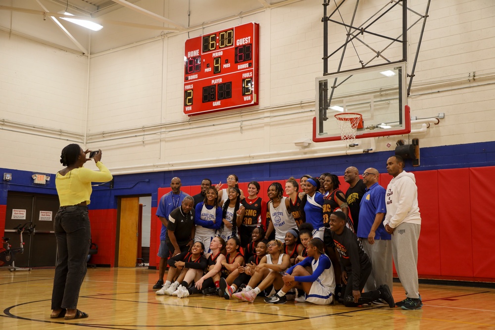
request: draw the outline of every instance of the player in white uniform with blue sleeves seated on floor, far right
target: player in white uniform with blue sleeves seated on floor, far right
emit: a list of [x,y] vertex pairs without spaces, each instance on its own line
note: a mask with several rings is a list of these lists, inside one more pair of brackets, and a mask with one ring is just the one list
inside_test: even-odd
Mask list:
[[[308,256],[297,265],[289,268],[282,277],[284,286],[280,291],[265,299],[269,304],[285,304],[285,294],[293,287],[304,290],[307,302],[317,305],[329,305],[335,291],[334,267],[325,254],[325,244],[319,238],[311,239],[307,244]],[[311,266],[313,274],[304,268]]]

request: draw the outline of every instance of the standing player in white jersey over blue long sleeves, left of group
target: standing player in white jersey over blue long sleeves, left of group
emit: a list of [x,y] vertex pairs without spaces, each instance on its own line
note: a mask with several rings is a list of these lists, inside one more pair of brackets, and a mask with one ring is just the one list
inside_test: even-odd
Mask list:
[[211,240],[222,225],[222,208],[218,205],[218,191],[215,187],[206,189],[204,201],[196,205],[194,223],[196,225],[194,241],[202,242],[204,246],[207,246],[205,252],[211,252],[209,249]]

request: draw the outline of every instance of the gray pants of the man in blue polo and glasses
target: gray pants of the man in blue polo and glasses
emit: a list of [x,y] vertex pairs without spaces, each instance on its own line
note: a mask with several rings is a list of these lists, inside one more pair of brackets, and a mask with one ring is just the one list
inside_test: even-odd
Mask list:
[[392,241],[390,239],[375,239],[374,244],[368,243],[368,238],[360,238],[364,251],[368,254],[373,270],[364,292],[376,290],[377,287],[387,284],[392,292]]

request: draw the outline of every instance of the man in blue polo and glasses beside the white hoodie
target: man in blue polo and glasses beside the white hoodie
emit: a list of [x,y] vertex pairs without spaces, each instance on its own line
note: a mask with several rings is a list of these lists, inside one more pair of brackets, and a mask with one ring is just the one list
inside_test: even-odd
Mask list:
[[392,241],[385,231],[385,189],[378,184],[379,173],[368,168],[363,173],[366,193],[361,199],[357,237],[371,259],[373,270],[364,286],[364,291],[372,291],[387,284],[392,291]]

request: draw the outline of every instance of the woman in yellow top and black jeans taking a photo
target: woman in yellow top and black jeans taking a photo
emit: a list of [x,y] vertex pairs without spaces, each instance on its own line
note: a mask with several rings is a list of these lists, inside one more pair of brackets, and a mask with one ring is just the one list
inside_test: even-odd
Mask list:
[[53,224],[57,240],[57,265],[51,295],[52,319],[88,317],[88,314],[77,309],[91,240],[87,205],[90,203],[91,183],[112,180],[112,175],[100,161],[101,150],[94,157],[99,172],[83,167],[91,159],[86,158],[88,152],[83,151],[78,144],[69,144],[63,148],[60,163],[65,168],[55,178],[60,209],[55,214]]

